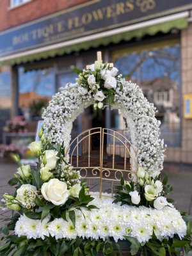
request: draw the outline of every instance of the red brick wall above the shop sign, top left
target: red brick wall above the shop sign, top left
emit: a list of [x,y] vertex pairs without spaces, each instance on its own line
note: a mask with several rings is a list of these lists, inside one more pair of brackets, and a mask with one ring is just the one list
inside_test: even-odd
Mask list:
[[87,1],[89,0],[33,0],[8,10],[10,0],[0,0],[0,31]]

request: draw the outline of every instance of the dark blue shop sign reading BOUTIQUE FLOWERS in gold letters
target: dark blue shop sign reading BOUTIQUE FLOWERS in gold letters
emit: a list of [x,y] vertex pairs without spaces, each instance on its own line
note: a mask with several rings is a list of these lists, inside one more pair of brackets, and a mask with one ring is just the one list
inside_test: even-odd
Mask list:
[[107,31],[161,16],[166,11],[173,13],[179,12],[179,8],[190,7],[191,0],[88,1],[1,32],[0,56]]

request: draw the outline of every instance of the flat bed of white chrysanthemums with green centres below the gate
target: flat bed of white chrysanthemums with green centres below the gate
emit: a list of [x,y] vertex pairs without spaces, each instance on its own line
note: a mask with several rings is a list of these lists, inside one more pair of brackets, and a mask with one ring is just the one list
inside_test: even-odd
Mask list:
[[[104,194],[108,195],[108,194]],[[134,207],[130,205],[120,206],[112,204],[113,198],[93,196],[92,204],[99,210],[83,209],[76,211],[76,228],[72,222],[62,218],[47,223],[50,217],[44,221],[31,220],[21,216],[15,226],[15,234],[27,236],[28,239],[49,236],[56,239],[75,239],[77,236],[83,238],[106,239],[113,237],[115,241],[125,239],[124,236],[136,237],[140,243],[152,238],[153,230],[158,239],[172,238],[178,234],[180,238],[186,235],[186,223],[182,220],[179,211],[172,204],[163,210],[156,210],[144,206]],[[84,218],[85,217],[85,218]]]

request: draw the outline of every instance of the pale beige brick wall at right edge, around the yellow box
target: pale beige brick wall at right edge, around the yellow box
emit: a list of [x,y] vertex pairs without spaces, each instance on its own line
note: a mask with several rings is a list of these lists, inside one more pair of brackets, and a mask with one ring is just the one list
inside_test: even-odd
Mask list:
[[[181,31],[182,93],[192,93],[192,23]],[[182,101],[183,102],[183,101]],[[183,111],[183,108],[182,108]],[[182,141],[180,148],[167,148],[165,161],[192,163],[192,119],[182,117]]]

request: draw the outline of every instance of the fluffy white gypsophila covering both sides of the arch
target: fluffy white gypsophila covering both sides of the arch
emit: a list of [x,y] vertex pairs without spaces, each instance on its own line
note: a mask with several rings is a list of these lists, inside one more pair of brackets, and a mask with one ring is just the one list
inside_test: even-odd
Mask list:
[[[120,90],[120,84],[123,88]],[[118,86],[119,85],[119,86]],[[82,95],[78,92],[79,84],[67,84],[56,93],[44,112],[44,134],[56,147],[64,141],[65,148],[70,143],[72,122],[91,104],[94,104],[93,93]],[[163,140],[159,139],[160,122],[155,118],[155,108],[144,97],[138,85],[120,78],[114,89],[112,108],[120,109],[131,129],[132,146],[137,159],[132,155],[132,170],[135,171],[136,161],[145,168],[150,177],[156,177],[163,169]],[[67,156],[68,161],[68,156]]]

